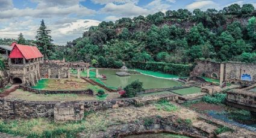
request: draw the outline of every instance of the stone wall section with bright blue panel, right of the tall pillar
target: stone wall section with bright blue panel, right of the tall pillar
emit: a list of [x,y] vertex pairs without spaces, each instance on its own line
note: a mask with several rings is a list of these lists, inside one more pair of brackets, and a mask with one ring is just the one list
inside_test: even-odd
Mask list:
[[224,80],[241,80],[242,76],[245,76],[243,80],[249,80],[249,78],[251,77],[251,80],[249,81],[256,82],[256,64],[225,63],[224,68]]

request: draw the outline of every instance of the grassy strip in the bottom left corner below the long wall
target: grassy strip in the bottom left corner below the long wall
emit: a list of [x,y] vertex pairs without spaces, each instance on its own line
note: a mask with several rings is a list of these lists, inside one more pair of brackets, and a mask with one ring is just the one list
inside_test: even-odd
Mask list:
[[110,124],[103,117],[99,117],[96,113],[88,113],[82,121],[61,122],[57,123],[49,119],[19,119],[19,120],[0,120],[0,131],[2,133],[26,136],[29,138],[37,137],[77,137],[76,134],[82,131],[97,132],[104,131]]

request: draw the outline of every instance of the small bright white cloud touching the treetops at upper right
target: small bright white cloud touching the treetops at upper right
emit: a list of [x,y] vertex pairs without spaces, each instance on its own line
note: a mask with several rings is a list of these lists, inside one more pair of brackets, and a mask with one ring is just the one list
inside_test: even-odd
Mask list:
[[208,8],[220,9],[219,4],[213,1],[196,1],[186,6],[188,10],[194,10],[200,8],[201,10],[207,10]]

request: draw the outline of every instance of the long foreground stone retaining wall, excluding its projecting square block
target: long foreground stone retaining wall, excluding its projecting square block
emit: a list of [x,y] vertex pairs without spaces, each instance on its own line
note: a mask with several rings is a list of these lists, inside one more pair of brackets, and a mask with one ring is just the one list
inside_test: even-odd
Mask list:
[[[105,110],[130,105],[145,105],[166,99],[176,100],[175,94],[151,95],[146,97],[119,98],[104,101],[66,101],[65,104],[73,107],[75,104],[84,105],[84,110]],[[63,101],[25,101],[0,98],[0,119],[15,118],[54,118],[54,108]],[[66,114],[65,114],[66,115]]]

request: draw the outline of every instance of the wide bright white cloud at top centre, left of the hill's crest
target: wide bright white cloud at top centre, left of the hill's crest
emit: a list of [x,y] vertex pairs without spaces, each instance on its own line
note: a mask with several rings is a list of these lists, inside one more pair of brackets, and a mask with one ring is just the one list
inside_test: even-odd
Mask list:
[[126,3],[122,5],[110,3],[105,5],[105,7],[101,9],[101,13],[130,17],[148,14],[149,10],[132,3]]

